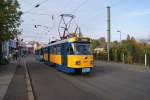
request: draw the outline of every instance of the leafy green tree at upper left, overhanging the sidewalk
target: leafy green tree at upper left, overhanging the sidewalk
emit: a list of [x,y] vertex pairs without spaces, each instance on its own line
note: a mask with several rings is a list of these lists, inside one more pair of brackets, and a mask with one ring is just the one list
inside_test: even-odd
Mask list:
[[0,57],[2,57],[2,42],[20,33],[18,27],[22,12],[19,8],[17,0],[0,0]]

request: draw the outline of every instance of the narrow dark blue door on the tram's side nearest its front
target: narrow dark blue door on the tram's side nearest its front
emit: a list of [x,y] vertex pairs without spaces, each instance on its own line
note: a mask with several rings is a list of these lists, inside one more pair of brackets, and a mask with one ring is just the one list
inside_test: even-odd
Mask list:
[[62,44],[62,65],[67,66],[67,44]]

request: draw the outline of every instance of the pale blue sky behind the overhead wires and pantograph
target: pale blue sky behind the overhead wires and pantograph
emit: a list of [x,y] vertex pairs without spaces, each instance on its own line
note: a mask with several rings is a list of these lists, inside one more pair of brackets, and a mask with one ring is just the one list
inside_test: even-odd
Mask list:
[[[47,43],[49,39],[58,38],[58,23],[61,13],[72,13],[81,27],[82,33],[91,38],[107,36],[107,6],[111,6],[111,40],[125,39],[127,34],[137,39],[150,35],[150,0],[48,0],[40,7],[32,9],[45,0],[19,0],[21,10],[29,11],[22,16],[24,21],[22,37],[26,41],[34,40]],[[79,7],[79,8],[78,8]],[[49,15],[37,15],[49,14]],[[51,16],[54,16],[52,20]],[[44,27],[52,27],[47,31]]]

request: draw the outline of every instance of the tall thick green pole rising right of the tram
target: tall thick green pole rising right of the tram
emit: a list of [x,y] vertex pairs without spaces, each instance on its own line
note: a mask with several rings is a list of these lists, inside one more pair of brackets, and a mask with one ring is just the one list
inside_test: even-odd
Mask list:
[[110,6],[107,7],[107,53],[108,62],[110,62],[110,34],[111,34],[111,22],[110,22]]

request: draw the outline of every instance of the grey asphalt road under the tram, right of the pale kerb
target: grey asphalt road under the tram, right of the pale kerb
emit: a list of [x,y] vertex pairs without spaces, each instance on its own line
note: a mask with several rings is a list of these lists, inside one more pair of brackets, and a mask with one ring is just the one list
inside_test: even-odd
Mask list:
[[26,59],[37,100],[150,100],[150,69],[95,61],[89,75],[68,75]]

